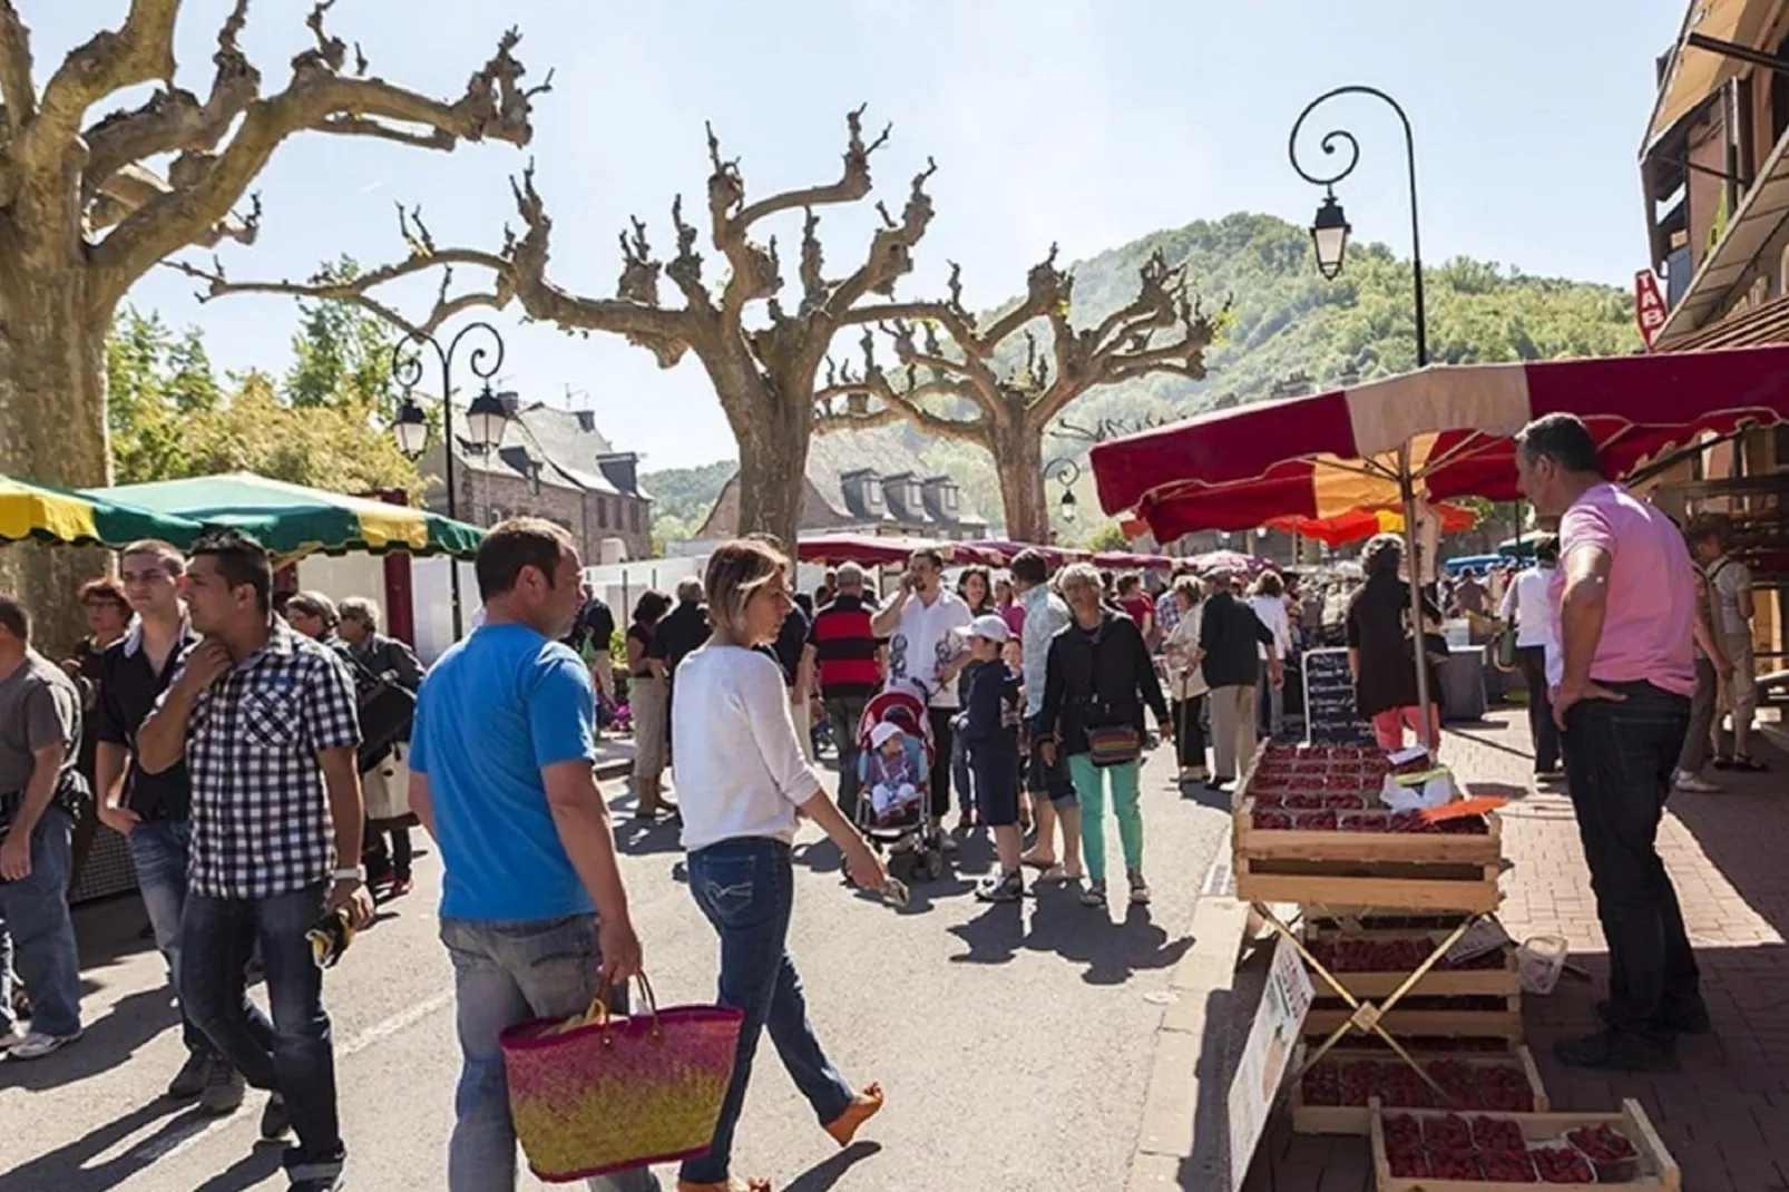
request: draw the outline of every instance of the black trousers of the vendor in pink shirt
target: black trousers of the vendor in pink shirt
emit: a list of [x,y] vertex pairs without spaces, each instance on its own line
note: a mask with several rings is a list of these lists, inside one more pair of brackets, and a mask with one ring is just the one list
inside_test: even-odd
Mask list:
[[1648,682],[1605,685],[1626,698],[1574,703],[1562,745],[1596,915],[1608,940],[1608,1024],[1669,1043],[1671,1022],[1701,1006],[1683,911],[1657,847],[1689,728],[1689,696]]

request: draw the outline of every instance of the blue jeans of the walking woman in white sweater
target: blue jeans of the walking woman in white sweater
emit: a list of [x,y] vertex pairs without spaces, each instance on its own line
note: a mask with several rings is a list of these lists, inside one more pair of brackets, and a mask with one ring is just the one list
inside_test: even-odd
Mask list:
[[769,1029],[789,1077],[821,1124],[844,1113],[853,1094],[814,1038],[801,977],[784,947],[794,909],[789,845],[741,836],[698,848],[689,854],[689,891],[721,936],[719,1002],[746,1011],[714,1145],[701,1158],[685,1160],[682,1172],[691,1183],[725,1183],[762,1031]]

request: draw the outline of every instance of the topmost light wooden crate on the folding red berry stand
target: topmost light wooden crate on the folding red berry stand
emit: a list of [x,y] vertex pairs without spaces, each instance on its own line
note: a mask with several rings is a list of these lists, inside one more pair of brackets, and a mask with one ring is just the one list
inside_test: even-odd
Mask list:
[[1256,754],[1231,800],[1236,897],[1320,907],[1497,909],[1503,823],[1483,836],[1440,832],[1311,832],[1254,827]]

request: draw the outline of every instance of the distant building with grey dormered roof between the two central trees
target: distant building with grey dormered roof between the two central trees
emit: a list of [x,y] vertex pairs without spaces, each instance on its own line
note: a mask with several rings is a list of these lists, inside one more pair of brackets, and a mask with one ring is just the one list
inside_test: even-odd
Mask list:
[[[696,533],[714,542],[739,532],[739,478],[721,489]],[[877,533],[968,542],[988,519],[968,507],[952,476],[932,473],[900,430],[814,435],[798,533]]]

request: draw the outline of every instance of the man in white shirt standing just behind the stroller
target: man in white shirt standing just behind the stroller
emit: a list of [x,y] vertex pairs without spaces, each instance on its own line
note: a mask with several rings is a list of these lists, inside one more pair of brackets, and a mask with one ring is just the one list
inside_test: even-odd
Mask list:
[[961,707],[957,673],[970,660],[964,630],[971,619],[970,607],[945,591],[945,557],[927,546],[907,560],[902,591],[871,621],[877,637],[889,643],[887,687],[920,691],[930,705],[932,814],[939,818],[950,813],[950,746],[955,743],[950,719]]

